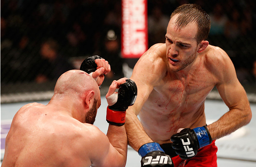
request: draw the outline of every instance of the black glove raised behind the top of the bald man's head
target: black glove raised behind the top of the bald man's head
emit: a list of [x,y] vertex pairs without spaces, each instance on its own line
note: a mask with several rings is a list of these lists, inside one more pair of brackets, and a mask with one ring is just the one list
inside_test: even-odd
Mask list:
[[87,72],[88,74],[95,72],[97,70],[97,65],[95,63],[96,59],[103,59],[100,56],[91,56],[89,58],[84,59],[80,66],[80,70]]

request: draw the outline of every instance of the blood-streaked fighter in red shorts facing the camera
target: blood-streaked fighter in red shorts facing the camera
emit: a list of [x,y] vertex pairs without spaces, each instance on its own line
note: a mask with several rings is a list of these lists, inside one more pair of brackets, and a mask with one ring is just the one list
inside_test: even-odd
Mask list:
[[[166,43],[153,45],[134,67],[131,80],[138,96],[127,110],[125,129],[142,166],[162,166],[151,158],[158,152],[159,157],[169,154],[175,167],[217,166],[215,140],[252,118],[229,56],[205,41],[210,24],[200,6],[178,7],[170,17]],[[214,86],[229,111],[206,125],[204,102]]]

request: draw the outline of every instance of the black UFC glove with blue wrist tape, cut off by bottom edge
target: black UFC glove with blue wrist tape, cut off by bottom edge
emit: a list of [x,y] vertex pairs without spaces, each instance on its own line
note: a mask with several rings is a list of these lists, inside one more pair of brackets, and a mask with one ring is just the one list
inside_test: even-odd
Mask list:
[[146,143],[138,153],[142,156],[141,167],[174,167],[171,157],[165,154],[159,143]]

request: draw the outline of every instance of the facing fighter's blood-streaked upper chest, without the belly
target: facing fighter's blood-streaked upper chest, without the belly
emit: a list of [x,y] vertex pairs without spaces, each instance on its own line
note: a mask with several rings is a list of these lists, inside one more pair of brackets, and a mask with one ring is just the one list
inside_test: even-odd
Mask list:
[[214,79],[207,72],[174,80],[167,77],[162,85],[154,88],[148,102],[168,112],[197,109],[214,85]]

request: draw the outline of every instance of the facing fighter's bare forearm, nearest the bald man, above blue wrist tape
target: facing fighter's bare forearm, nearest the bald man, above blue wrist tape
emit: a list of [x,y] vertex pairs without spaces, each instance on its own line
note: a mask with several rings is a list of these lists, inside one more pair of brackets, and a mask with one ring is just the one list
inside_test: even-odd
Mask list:
[[129,145],[137,152],[142,145],[153,142],[144,131],[138,117],[129,109],[126,112],[125,130]]

